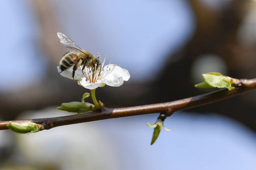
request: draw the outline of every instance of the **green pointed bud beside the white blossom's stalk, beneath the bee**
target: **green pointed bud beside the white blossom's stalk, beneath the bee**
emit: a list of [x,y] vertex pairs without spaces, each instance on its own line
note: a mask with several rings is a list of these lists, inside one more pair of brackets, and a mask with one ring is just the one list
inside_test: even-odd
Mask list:
[[63,103],[61,107],[57,108],[60,111],[67,111],[73,113],[86,113],[95,111],[95,107],[90,103],[82,103],[78,101],[72,101],[70,103]]

